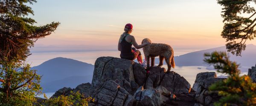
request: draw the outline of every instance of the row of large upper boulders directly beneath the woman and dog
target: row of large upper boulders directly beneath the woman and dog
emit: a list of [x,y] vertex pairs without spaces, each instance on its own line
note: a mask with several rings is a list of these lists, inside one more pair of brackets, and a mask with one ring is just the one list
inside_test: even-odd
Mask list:
[[149,89],[161,85],[175,94],[187,94],[191,91],[191,86],[185,78],[173,71],[165,71],[165,68],[151,67],[147,78],[146,71],[140,64],[126,59],[100,57],[95,62],[92,84],[97,86],[113,80],[131,95],[139,86]]

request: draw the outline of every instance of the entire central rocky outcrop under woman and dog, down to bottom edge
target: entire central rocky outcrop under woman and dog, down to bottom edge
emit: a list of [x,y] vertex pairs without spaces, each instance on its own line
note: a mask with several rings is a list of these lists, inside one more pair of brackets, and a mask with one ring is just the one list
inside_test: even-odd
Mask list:
[[175,95],[188,95],[191,86],[179,74],[165,72],[165,68],[151,67],[147,74],[134,61],[100,57],[95,62],[92,84],[80,84],[75,89],[60,89],[54,97],[79,91],[85,97],[95,98],[90,106],[160,106],[169,102],[177,104],[174,101],[177,100]]

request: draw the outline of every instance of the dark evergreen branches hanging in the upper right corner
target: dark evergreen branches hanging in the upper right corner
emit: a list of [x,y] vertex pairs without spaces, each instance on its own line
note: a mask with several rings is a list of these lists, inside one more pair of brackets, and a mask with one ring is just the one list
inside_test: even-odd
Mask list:
[[[256,37],[256,11],[250,3],[256,0],[217,0],[218,4],[224,6],[221,11],[221,17],[224,18],[224,27],[221,36],[226,39],[227,51],[241,56],[242,50],[245,50],[247,40]],[[250,14],[249,17],[245,14]]]

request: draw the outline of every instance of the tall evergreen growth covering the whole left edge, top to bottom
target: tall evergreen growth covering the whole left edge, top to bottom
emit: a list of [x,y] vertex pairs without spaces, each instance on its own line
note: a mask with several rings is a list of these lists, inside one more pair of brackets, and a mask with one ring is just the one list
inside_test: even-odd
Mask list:
[[[32,105],[40,93],[40,76],[30,70],[26,57],[39,38],[56,30],[59,22],[35,26],[29,18],[36,0],[0,0],[0,105]],[[34,14],[33,14],[34,15]]]

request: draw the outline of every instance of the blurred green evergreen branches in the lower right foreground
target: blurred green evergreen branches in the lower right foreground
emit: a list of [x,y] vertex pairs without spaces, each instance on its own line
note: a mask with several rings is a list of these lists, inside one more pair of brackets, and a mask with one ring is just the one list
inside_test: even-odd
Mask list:
[[217,72],[229,75],[209,87],[222,96],[215,106],[256,106],[256,83],[247,75],[239,76],[239,64],[230,61],[225,52],[205,53],[205,57],[204,61],[213,64]]

